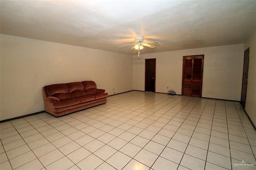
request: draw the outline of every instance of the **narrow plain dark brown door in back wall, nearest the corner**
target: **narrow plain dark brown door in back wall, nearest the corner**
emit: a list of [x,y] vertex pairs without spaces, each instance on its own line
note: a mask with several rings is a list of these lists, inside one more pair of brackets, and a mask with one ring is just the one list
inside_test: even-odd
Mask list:
[[156,59],[145,59],[145,91],[156,92]]

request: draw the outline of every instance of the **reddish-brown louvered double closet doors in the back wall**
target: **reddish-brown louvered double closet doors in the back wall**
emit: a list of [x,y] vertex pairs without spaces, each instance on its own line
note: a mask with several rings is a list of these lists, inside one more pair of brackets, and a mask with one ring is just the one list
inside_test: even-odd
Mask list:
[[204,55],[183,56],[182,95],[202,97]]

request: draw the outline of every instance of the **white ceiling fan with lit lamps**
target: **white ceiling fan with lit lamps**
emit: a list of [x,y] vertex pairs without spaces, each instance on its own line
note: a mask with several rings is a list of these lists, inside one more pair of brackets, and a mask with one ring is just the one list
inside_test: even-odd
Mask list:
[[151,44],[159,44],[160,42],[144,42],[144,37],[143,36],[137,36],[135,37],[135,42],[131,43],[131,44],[126,44],[126,45],[121,45],[119,47],[124,47],[124,46],[128,46],[128,45],[134,45],[131,49],[143,49],[143,46],[146,47],[150,47],[150,48],[154,48],[156,46],[151,45]]

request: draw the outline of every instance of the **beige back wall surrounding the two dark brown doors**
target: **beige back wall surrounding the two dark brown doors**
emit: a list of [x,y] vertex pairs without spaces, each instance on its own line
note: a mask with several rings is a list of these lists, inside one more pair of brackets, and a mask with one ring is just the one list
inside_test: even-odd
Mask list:
[[[140,59],[156,58],[156,92],[182,90],[182,59],[204,54],[202,97],[240,101],[244,44],[140,54]],[[134,60],[138,59],[134,55]],[[134,64],[134,90],[144,91],[145,65]],[[169,87],[169,89],[167,89]]]

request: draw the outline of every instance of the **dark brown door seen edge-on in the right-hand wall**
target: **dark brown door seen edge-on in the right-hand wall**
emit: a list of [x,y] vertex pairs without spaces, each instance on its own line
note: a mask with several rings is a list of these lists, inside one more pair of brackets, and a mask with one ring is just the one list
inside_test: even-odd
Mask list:
[[244,51],[244,71],[243,71],[242,93],[241,93],[241,101],[240,101],[243,108],[245,108],[246,92],[247,92],[249,52],[250,52],[249,48]]

